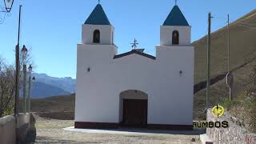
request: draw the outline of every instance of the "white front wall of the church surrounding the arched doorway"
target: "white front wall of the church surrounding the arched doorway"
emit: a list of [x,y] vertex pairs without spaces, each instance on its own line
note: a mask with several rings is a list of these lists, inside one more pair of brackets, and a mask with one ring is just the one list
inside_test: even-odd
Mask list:
[[[170,29],[162,26],[161,35]],[[194,47],[186,29],[181,46],[156,46],[155,60],[138,54],[113,59],[114,45],[78,44],[75,122],[120,122],[120,94],[141,90],[148,94],[149,124],[192,125]]]

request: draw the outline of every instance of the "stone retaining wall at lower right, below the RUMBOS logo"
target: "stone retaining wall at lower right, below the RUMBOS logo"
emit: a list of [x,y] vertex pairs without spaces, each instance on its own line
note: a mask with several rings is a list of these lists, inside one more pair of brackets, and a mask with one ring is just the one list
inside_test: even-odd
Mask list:
[[256,134],[249,133],[242,126],[242,122],[230,116],[228,112],[222,115],[221,118],[215,118],[211,114],[211,110],[207,112],[207,121],[210,122],[229,122],[228,128],[207,128],[206,134],[214,143],[221,144],[256,144]]

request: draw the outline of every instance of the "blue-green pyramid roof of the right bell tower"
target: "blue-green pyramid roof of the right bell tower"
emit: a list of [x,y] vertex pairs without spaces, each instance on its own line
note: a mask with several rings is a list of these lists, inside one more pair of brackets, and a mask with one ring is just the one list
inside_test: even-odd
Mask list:
[[170,14],[166,18],[166,21],[162,26],[189,26],[189,23],[186,21],[186,18],[182,14],[182,11],[176,5],[170,11]]

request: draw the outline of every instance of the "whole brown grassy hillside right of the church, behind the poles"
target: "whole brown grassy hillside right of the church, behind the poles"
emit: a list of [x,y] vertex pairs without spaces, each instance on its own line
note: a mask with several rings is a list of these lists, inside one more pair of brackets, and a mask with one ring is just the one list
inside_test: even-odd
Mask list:
[[[211,78],[226,74],[227,71],[227,29],[223,27],[211,34]],[[201,38],[193,42],[195,46],[194,82],[206,81],[206,42]],[[230,25],[230,70],[234,74],[234,96],[237,97],[246,88],[249,74],[256,64],[256,10],[246,14]],[[223,78],[223,77],[222,77]],[[210,87],[211,105],[228,97],[226,78]],[[204,118],[206,90],[194,94],[194,118]]]

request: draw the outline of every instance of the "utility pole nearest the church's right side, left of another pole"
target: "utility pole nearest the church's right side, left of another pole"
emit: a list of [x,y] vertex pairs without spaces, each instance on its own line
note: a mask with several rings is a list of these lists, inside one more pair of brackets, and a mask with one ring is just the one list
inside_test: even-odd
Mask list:
[[208,38],[207,38],[207,84],[206,84],[206,113],[208,109],[208,98],[210,94],[210,24],[211,14],[208,14]]

